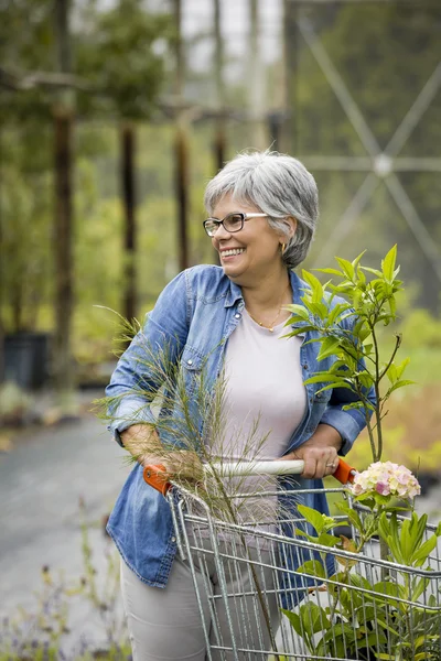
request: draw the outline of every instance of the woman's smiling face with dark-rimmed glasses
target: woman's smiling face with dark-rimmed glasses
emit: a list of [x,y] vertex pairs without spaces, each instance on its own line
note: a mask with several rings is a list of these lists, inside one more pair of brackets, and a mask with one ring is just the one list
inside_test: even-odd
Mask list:
[[[212,216],[222,220],[234,212],[252,214],[261,213],[261,209],[226,195],[217,203]],[[283,238],[265,217],[245,220],[243,229],[237,232],[228,232],[220,225],[212,242],[225,274],[240,286],[256,285],[261,279],[284,269],[280,252]]]

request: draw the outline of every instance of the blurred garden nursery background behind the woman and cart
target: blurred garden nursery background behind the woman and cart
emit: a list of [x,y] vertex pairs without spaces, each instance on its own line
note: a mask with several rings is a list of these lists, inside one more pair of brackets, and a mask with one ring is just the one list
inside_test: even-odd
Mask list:
[[[68,636],[66,595],[98,621],[82,603],[71,631],[101,627],[107,650],[125,636],[103,524],[128,468],[92,400],[115,312],[142,322],[181,269],[216,262],[203,191],[244,149],[315,176],[305,268],[365,249],[377,268],[398,245],[406,289],[381,346],[402,333],[416,384],[394,393],[385,458],[418,473],[439,520],[440,35],[439,0],[0,0],[2,613],[44,566],[33,615],[0,621],[0,657],[19,640],[8,658],[46,658],[20,641]],[[369,456],[362,437],[351,462]],[[82,578],[68,592],[53,568]]]

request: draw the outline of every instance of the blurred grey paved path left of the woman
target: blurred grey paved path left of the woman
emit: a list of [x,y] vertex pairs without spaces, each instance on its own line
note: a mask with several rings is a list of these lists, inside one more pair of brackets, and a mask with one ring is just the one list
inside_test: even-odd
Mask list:
[[[64,572],[67,579],[80,577],[79,498],[88,520],[98,523],[90,541],[93,562],[103,573],[106,550],[112,544],[100,522],[129,472],[123,456],[103,423],[92,416],[28,430],[14,440],[10,453],[0,455],[1,615],[13,614],[19,605],[35,610],[43,565],[55,576]],[[74,607],[73,618],[82,631],[98,632],[99,621],[89,621],[84,605],[76,611]]]

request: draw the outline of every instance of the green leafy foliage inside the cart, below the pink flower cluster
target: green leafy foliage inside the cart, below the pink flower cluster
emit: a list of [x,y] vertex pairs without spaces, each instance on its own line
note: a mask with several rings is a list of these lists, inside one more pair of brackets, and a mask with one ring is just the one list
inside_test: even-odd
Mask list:
[[[357,507],[361,502],[362,509]],[[343,535],[340,540],[331,535],[326,539],[321,532],[320,514],[302,508],[302,516],[319,533],[310,541],[322,545],[323,559],[326,550],[331,552],[340,568],[326,577],[324,564],[319,561],[299,567],[299,573],[324,582],[329,605],[308,602],[298,613],[282,609],[294,631],[313,658],[439,659],[440,605],[432,589],[437,579],[431,579],[430,574],[432,568],[438,570],[437,563],[431,566],[431,559],[441,537],[441,524],[430,534],[427,514],[418,517],[411,512],[410,518],[401,518],[390,498],[375,491],[356,497],[355,502],[351,499],[340,502],[337,507],[352,525],[353,541]],[[340,523],[341,519],[330,519],[326,528]],[[388,561],[381,565],[380,579],[372,551],[364,556],[369,559],[367,570],[361,562],[361,554],[375,537],[379,537]],[[401,570],[402,565],[408,571]]]

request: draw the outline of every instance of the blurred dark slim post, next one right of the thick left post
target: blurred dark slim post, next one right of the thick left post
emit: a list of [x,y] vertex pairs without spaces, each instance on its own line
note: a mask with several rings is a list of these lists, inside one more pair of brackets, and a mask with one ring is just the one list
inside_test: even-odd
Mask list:
[[137,226],[136,226],[136,182],[135,182],[136,132],[127,123],[121,129],[121,182],[125,209],[125,284],[123,316],[132,319],[137,314]]

